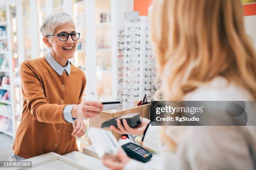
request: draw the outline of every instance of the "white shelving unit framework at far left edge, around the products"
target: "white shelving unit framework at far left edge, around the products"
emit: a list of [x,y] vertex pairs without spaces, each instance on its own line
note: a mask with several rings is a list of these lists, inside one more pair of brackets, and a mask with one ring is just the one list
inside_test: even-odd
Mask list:
[[[0,57],[8,60],[7,66],[0,66],[0,75],[8,76],[10,79],[10,85],[3,86],[0,84],[0,90],[4,90],[4,92],[8,92],[8,100],[2,99],[0,96],[0,132],[5,133],[7,135],[15,138],[16,131],[16,123],[15,123],[15,95],[14,95],[14,77],[13,77],[13,57],[12,57],[12,35],[11,35],[11,21],[10,13],[13,12],[10,10],[11,7],[14,7],[15,4],[10,4],[6,2],[0,2],[0,10],[5,11],[5,21],[1,22],[3,18],[0,20],[0,27],[4,27],[6,31],[5,36],[0,37],[0,43],[6,42],[5,50],[0,50]],[[1,11],[1,12],[2,12]],[[10,99],[9,99],[10,98]]]

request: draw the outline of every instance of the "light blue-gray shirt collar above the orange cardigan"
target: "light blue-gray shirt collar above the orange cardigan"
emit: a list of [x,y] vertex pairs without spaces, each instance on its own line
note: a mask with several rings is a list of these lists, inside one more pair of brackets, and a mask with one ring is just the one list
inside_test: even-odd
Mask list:
[[69,62],[69,60],[67,61],[68,62],[67,66],[62,67],[58,62],[56,62],[54,57],[52,57],[51,52],[49,52],[46,55],[45,59],[49,63],[49,65],[51,65],[51,67],[58,73],[58,75],[61,76],[64,70],[66,70],[68,75],[70,75],[70,62]]

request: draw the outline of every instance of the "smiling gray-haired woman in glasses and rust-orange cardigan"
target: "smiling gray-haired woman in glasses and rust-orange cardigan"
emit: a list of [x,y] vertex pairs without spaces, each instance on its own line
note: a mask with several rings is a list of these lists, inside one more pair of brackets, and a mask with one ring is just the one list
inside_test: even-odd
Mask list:
[[84,72],[69,62],[80,34],[69,14],[47,17],[41,34],[51,52],[20,65],[23,112],[11,160],[78,151],[75,137],[84,135],[82,119],[102,110],[99,102],[82,101]]

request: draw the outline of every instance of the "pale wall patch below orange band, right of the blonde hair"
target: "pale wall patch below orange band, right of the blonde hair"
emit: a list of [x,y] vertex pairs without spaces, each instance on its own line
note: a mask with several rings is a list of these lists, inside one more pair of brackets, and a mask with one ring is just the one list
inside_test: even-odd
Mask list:
[[256,15],[244,17],[246,33],[253,37],[253,46],[256,50]]

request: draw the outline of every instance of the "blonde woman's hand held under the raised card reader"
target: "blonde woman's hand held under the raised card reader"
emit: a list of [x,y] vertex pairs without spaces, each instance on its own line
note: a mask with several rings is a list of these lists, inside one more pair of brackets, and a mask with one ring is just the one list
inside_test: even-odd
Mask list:
[[123,119],[124,126],[121,124],[120,120],[117,120],[118,128],[115,128],[115,126],[113,125],[111,125],[110,128],[116,133],[120,134],[143,135],[149,122],[149,119],[142,117],[141,124],[138,125],[136,128],[131,128],[126,122],[126,120]]

